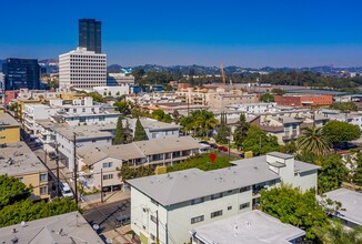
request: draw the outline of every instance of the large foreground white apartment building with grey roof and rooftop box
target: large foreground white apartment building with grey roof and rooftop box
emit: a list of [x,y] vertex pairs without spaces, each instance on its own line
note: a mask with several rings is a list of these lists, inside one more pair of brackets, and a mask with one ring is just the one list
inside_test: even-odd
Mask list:
[[159,226],[160,243],[189,243],[191,230],[258,206],[262,189],[278,187],[281,182],[302,191],[318,185],[319,166],[293,155],[273,152],[233,164],[128,181],[132,231],[142,243],[152,243]]

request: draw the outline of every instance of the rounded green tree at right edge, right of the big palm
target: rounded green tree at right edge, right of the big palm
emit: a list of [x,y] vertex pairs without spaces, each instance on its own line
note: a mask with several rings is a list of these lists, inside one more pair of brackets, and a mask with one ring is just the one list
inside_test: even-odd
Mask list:
[[328,122],[323,128],[323,133],[333,144],[335,151],[338,144],[356,140],[361,135],[359,125],[349,124],[341,121]]

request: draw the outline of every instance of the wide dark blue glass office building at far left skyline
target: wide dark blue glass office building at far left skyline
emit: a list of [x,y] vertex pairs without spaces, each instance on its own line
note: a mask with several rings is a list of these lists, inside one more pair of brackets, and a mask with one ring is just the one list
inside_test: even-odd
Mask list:
[[2,63],[4,90],[39,89],[40,67],[37,59],[9,58]]

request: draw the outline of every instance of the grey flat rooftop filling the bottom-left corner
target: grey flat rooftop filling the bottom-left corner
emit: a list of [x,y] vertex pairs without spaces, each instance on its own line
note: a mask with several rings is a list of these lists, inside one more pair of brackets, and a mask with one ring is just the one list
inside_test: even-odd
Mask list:
[[[16,233],[13,233],[13,230]],[[104,243],[79,212],[44,217],[0,228],[1,243]]]

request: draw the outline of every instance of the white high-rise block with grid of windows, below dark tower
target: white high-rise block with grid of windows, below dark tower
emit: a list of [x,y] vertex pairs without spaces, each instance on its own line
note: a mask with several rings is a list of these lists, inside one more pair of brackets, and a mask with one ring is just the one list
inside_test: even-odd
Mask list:
[[92,90],[107,85],[107,54],[86,48],[59,55],[59,87]]

